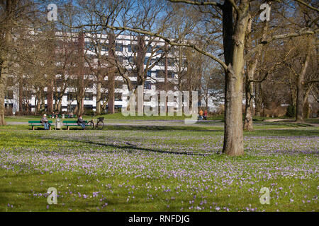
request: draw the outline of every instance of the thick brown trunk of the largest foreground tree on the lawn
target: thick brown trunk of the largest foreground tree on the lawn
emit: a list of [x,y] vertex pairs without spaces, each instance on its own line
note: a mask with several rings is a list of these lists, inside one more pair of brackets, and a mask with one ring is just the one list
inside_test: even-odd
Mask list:
[[223,6],[223,45],[225,63],[225,130],[223,153],[243,155],[242,69],[244,67],[245,32],[249,18],[249,1],[243,0],[233,30],[233,6]]

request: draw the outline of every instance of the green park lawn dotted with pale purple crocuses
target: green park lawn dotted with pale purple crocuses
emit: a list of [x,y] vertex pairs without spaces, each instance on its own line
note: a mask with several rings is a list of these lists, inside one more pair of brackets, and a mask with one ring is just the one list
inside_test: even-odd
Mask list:
[[0,211],[319,210],[318,127],[258,122],[245,155],[228,157],[218,122],[162,126],[0,127]]

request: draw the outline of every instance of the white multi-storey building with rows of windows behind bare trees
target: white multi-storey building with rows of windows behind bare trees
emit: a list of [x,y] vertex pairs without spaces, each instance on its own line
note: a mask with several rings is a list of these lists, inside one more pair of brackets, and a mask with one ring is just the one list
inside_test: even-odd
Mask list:
[[[62,34],[56,33],[57,39],[62,39]],[[99,45],[100,44],[100,45]],[[116,36],[116,56],[118,61],[121,63],[121,66],[128,71],[132,72],[134,68],[134,60],[136,59],[136,47],[138,44],[138,40],[136,36],[132,35],[117,35]],[[99,47],[99,53],[103,56],[108,56],[108,37],[107,35],[84,35],[84,54],[86,57],[92,59],[92,64],[97,61],[96,59],[96,47]],[[144,93],[152,93],[159,94],[160,90],[163,90],[161,85],[164,84],[165,81],[165,72],[167,71],[167,83],[170,84],[170,90],[177,91],[177,83],[178,83],[178,71],[184,70],[186,71],[186,59],[184,57],[179,58],[179,54],[177,54],[176,49],[173,52],[169,52],[169,54],[162,55],[163,47],[165,43],[163,40],[152,39],[145,37],[145,61],[144,61],[144,69],[145,71],[152,66],[152,69],[147,70],[147,79],[144,85]],[[162,59],[160,59],[162,57]],[[182,62],[183,65],[177,65],[176,59],[179,58],[179,62]],[[166,61],[166,62],[165,62]],[[167,65],[167,68],[166,66]],[[84,63],[84,67],[89,67],[88,63]],[[87,71],[87,70],[86,70]],[[59,75],[57,75],[59,76]],[[133,85],[136,85],[137,76],[134,76],[132,73],[130,76],[130,81]],[[95,76],[92,73],[84,74],[84,79],[92,80],[93,82],[85,88],[84,95],[84,109],[91,109],[93,111],[96,110],[96,83],[94,83]],[[9,78],[10,80],[10,78]],[[105,83],[108,81],[108,76],[104,78]],[[128,85],[125,84],[123,80],[123,76],[116,76],[115,78],[115,108],[121,108],[126,106],[126,101],[123,100],[122,94],[128,93]],[[19,100],[18,93],[19,88],[16,84],[10,84],[9,82],[8,92],[5,97],[5,105],[8,108],[12,109],[13,114],[15,112],[20,111],[19,109]],[[44,89],[47,91],[47,88]],[[56,90],[60,92],[60,90]],[[102,93],[107,92],[107,88],[102,88]],[[180,90],[182,91],[182,90]],[[74,108],[77,106],[77,100],[74,100],[72,97],[72,93],[75,90],[72,87],[67,87],[65,93],[62,97],[62,112],[72,112]],[[31,112],[35,112],[35,107],[37,105],[37,100],[35,97],[35,93],[32,90],[28,90],[26,95],[23,96],[23,103],[28,105]],[[53,105],[55,105],[55,101],[53,100]],[[209,101],[211,105],[211,101]],[[45,106],[47,105],[47,100],[45,100]],[[145,102],[144,105],[154,105],[151,102]],[[213,107],[213,106],[211,106]]]

